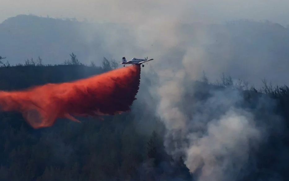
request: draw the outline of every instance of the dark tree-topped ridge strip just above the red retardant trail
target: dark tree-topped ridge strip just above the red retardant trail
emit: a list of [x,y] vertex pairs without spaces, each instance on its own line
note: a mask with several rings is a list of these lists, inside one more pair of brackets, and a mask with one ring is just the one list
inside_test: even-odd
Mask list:
[[55,65],[44,64],[39,56],[36,61],[31,58],[25,60],[24,64],[16,65],[10,65],[9,61],[0,60],[0,88],[1,90],[15,90],[32,85],[68,82],[101,74],[118,67],[115,60],[109,61],[105,57],[103,57],[102,64],[101,67],[95,66],[95,63],[91,61],[90,66],[86,66],[77,59],[74,53],[70,54],[70,60]]

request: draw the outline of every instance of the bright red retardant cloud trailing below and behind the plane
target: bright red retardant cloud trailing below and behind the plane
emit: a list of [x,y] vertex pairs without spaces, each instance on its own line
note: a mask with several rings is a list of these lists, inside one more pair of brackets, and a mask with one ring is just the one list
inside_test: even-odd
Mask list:
[[139,65],[87,79],[45,84],[23,91],[0,91],[0,110],[18,111],[34,129],[52,126],[58,118],[99,117],[130,111],[140,84]]

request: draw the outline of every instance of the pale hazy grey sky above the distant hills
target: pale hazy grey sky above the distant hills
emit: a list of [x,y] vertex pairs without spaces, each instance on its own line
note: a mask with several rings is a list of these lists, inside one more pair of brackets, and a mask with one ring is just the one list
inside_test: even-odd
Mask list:
[[35,14],[100,22],[141,22],[154,17],[183,22],[246,18],[286,26],[289,24],[288,7],[286,0],[1,0],[0,22],[19,14]]

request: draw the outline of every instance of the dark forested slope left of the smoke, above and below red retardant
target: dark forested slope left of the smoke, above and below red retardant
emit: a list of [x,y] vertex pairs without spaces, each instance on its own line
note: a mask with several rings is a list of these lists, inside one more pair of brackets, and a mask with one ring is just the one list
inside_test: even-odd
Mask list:
[[[73,60],[73,58],[72,58]],[[103,66],[2,65],[2,90],[72,81],[113,69]],[[144,78],[144,82],[148,82]],[[0,180],[190,180],[191,174],[179,157],[167,155],[162,145],[164,125],[153,115],[139,111],[105,119],[81,119],[82,123],[58,120],[48,129],[32,129],[19,113],[1,114]],[[143,110],[143,111],[142,111]],[[137,118],[146,117],[145,123]],[[139,125],[150,129],[139,131]],[[145,126],[142,126],[145,128]]]

